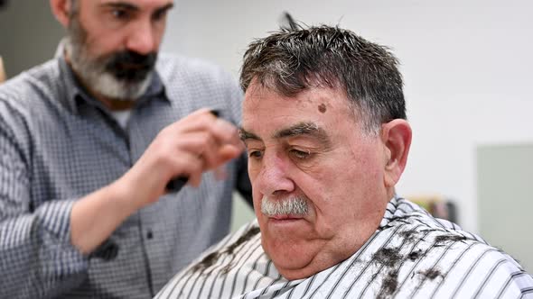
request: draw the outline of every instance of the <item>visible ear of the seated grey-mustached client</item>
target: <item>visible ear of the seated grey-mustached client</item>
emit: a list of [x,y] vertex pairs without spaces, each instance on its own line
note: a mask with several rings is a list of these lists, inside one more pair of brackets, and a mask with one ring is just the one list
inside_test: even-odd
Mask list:
[[385,186],[395,186],[407,164],[412,131],[406,120],[396,119],[381,125],[381,140],[385,146]]

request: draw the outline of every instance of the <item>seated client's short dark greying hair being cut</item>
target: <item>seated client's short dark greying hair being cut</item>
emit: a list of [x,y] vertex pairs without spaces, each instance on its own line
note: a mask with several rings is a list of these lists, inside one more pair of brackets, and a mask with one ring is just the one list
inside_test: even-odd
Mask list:
[[345,92],[364,131],[407,119],[398,61],[388,48],[339,27],[282,29],[248,46],[240,73],[246,92],[254,80],[280,95],[313,87]]

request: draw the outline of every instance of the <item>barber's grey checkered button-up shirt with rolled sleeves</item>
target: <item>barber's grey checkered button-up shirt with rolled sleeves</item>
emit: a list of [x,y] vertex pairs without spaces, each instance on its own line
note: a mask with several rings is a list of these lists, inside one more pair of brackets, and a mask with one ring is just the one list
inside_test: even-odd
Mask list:
[[0,86],[0,298],[148,298],[229,231],[232,190],[249,192],[243,159],[225,181],[206,174],[132,215],[89,256],[70,244],[72,204],[121,177],[164,126],[201,107],[240,119],[220,68],[164,56],[157,70],[126,130],[64,59]]

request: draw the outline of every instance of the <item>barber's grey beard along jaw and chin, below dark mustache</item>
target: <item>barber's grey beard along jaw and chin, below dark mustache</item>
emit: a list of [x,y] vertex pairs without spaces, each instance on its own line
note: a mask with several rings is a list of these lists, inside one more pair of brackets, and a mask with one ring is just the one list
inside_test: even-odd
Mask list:
[[106,70],[108,59],[94,59],[85,50],[85,32],[78,20],[72,19],[70,36],[66,50],[70,55],[70,65],[83,83],[99,95],[116,99],[134,101],[145,94],[152,81],[153,71],[141,82],[118,80]]

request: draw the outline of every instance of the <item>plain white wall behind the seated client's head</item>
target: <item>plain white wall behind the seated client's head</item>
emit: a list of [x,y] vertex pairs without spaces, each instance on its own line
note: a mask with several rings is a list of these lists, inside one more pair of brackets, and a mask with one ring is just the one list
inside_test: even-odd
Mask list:
[[304,23],[340,23],[392,47],[414,130],[397,191],[451,197],[463,227],[479,231],[476,145],[533,140],[533,3],[177,0],[163,49],[210,59],[237,77],[248,43],[276,30],[285,10]]

